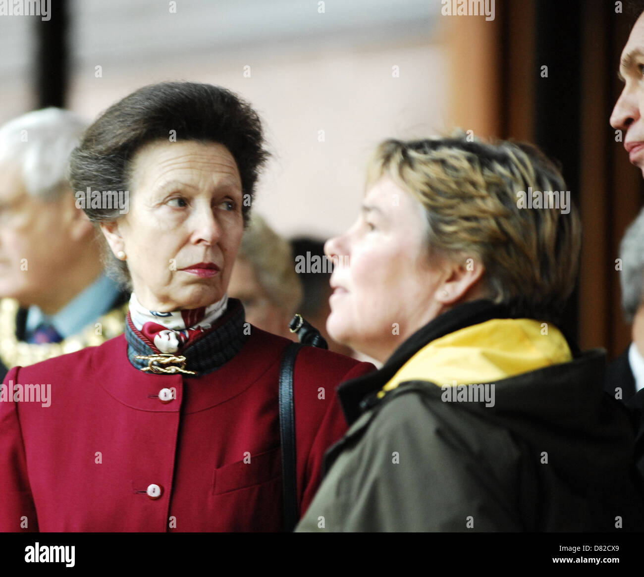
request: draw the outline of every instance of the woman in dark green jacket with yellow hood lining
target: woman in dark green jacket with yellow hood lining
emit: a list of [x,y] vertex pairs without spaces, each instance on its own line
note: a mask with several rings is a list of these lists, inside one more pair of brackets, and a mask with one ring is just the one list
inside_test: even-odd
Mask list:
[[377,148],[360,216],[325,247],[348,256],[327,328],[384,366],[339,387],[350,429],[298,530],[641,531],[605,352],[557,326],[580,219],[528,207],[531,189],[566,186],[528,145]]

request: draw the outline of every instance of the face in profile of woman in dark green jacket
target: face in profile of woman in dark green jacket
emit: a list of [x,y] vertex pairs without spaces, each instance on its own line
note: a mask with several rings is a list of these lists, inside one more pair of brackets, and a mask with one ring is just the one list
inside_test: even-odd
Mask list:
[[340,257],[330,281],[332,338],[384,363],[441,312],[444,274],[426,256],[426,227],[421,203],[388,176],[367,191],[354,225],[325,245]]

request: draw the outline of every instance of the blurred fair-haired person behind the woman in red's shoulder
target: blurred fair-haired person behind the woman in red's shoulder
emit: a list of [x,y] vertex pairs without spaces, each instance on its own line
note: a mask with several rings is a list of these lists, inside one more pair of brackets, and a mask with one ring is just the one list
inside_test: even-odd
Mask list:
[[251,325],[297,341],[289,323],[300,312],[302,286],[292,261],[289,243],[254,214],[244,231],[228,292],[242,301]]

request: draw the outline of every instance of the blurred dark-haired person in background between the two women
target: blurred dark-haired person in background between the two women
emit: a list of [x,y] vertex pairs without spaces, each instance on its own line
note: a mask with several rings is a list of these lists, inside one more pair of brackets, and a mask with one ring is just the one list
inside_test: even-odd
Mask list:
[[[294,257],[301,258],[303,262],[308,262],[316,256],[320,260],[326,258],[323,240],[298,236],[292,238],[290,244],[293,247]],[[330,265],[330,261],[328,264]],[[320,267],[320,270],[307,270],[306,267],[303,267],[304,270],[299,270],[297,265],[296,261],[296,271],[304,289],[302,303],[298,309],[299,314],[319,330],[327,341],[329,350],[353,357],[354,351],[350,347],[334,341],[327,331],[327,319],[331,312],[328,299],[333,292],[329,285],[332,271],[329,267]]]

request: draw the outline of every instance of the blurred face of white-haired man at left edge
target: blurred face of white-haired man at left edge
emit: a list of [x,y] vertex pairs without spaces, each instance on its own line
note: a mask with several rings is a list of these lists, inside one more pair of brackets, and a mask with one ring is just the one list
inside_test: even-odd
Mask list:
[[0,175],[0,297],[47,308],[76,253],[73,195],[43,202],[27,193],[12,164],[0,164]]

